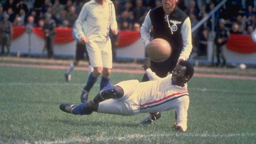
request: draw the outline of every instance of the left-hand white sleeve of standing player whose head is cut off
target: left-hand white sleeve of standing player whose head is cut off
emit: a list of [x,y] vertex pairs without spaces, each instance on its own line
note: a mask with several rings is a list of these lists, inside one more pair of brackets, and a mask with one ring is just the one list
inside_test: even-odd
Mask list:
[[82,25],[83,25],[83,22],[86,20],[87,16],[88,16],[88,8],[86,5],[83,5],[83,8],[76,20],[76,30],[77,30],[79,39],[81,39],[82,37],[85,37],[83,33]]

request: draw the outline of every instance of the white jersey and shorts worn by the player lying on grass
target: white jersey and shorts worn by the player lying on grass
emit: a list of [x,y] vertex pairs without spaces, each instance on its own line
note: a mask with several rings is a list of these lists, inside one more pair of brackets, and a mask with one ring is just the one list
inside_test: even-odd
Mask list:
[[150,69],[146,71],[149,78],[157,79],[140,83],[127,80],[116,85],[124,91],[120,99],[108,99],[100,102],[99,113],[133,116],[138,113],[161,112],[175,109],[177,126],[187,129],[187,110],[189,97],[187,84],[184,87],[171,84],[171,75],[159,78]]

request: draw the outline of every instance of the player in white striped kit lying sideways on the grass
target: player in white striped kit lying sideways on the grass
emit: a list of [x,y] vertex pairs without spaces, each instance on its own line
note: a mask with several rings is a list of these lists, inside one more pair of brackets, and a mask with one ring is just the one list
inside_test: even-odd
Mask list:
[[91,101],[78,106],[60,104],[59,109],[75,115],[90,115],[96,111],[122,116],[174,109],[177,112],[175,129],[185,132],[190,102],[186,83],[194,74],[192,64],[180,61],[173,73],[165,78],[159,78],[151,71],[147,59],[142,67],[151,81],[127,80],[114,86],[107,85]]

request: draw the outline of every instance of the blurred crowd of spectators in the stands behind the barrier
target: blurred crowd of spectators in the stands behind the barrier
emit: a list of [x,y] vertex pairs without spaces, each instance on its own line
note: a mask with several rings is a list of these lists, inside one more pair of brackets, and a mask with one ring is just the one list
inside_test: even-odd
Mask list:
[[[57,27],[71,28],[85,2],[90,0],[1,0],[0,21],[4,13],[14,26],[25,26],[28,17],[33,26],[43,26],[45,14],[51,14]],[[112,0],[119,30],[139,30],[147,12],[161,5],[161,0]],[[192,27],[203,19],[221,0],[179,0],[178,7],[189,17]],[[228,0],[211,19],[192,33],[194,50],[202,50],[209,31],[218,29],[218,20],[225,19],[230,33],[251,34],[256,28],[256,0]],[[31,20],[30,20],[31,21]],[[30,22],[31,23],[31,22]],[[205,54],[205,52],[199,52]]]

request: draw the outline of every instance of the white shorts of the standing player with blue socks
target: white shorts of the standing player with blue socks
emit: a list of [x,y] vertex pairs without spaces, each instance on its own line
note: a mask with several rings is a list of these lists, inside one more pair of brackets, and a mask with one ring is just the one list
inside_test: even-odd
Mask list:
[[112,68],[111,40],[99,42],[89,40],[86,49],[90,57],[92,67]]

